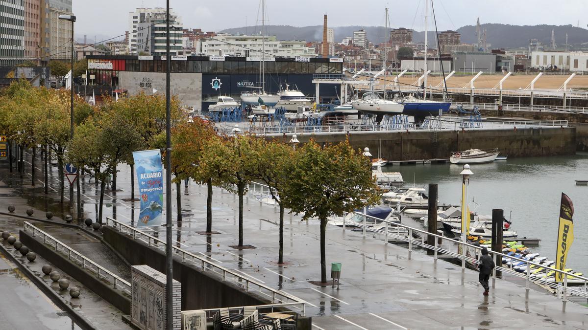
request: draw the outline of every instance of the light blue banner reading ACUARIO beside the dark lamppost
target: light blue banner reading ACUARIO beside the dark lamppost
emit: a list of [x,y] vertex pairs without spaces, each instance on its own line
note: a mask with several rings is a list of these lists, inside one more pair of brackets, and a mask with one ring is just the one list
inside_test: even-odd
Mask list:
[[161,224],[163,212],[163,166],[159,150],[133,152],[135,171],[139,182],[141,212],[137,227]]

